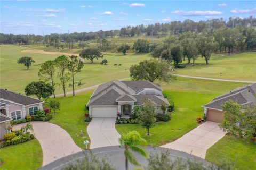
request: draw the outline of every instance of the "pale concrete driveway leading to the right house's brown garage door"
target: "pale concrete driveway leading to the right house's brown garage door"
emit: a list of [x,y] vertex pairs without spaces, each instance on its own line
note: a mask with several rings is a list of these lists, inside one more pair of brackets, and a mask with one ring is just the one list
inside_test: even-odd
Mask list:
[[161,147],[175,149],[201,158],[205,158],[206,150],[225,136],[218,123],[207,121],[183,135],[174,142]]

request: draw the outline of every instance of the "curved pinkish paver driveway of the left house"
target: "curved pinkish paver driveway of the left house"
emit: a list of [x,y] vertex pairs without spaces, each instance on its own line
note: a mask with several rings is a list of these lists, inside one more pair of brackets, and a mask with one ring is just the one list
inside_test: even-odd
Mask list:
[[[40,142],[43,150],[43,166],[54,160],[82,151],[70,135],[60,126],[49,122],[30,122],[33,124],[35,137]],[[20,129],[25,123],[15,125]]]

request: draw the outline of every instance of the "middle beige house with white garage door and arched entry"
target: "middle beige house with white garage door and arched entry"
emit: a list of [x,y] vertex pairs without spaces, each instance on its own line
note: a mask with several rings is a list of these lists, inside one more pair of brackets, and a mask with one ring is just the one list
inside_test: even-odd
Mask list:
[[[93,92],[87,107],[91,117],[116,117],[117,112],[130,115],[136,105],[143,105],[150,98],[155,106],[170,105],[158,84],[148,81],[110,81]],[[156,111],[163,113],[160,109]]]

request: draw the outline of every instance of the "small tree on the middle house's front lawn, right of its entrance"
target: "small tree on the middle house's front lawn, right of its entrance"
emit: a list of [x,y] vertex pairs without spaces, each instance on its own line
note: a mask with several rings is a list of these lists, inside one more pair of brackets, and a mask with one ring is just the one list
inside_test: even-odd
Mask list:
[[138,114],[139,123],[147,129],[147,135],[150,135],[149,128],[154,126],[156,122],[156,112],[153,101],[147,98]]

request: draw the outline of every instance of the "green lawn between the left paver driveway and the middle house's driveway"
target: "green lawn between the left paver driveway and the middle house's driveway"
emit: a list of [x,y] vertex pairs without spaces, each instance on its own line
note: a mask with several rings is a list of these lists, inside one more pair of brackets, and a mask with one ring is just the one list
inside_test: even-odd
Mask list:
[[90,140],[86,131],[87,123],[84,121],[84,114],[88,113],[85,105],[91,95],[92,91],[86,91],[84,94],[76,94],[76,96],[57,98],[60,101],[61,109],[59,114],[53,115],[53,119],[50,121],[65,129],[76,145],[81,148],[85,148],[84,140]]

